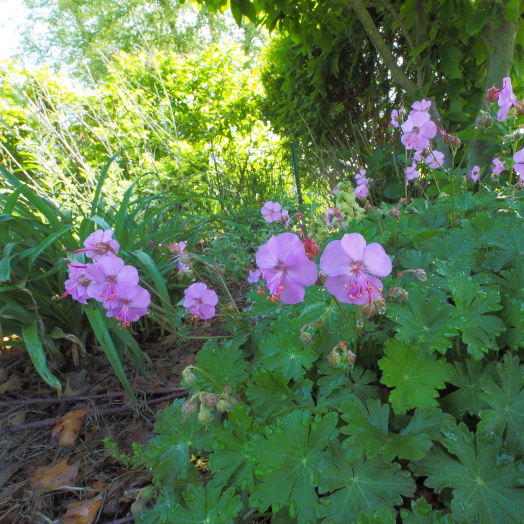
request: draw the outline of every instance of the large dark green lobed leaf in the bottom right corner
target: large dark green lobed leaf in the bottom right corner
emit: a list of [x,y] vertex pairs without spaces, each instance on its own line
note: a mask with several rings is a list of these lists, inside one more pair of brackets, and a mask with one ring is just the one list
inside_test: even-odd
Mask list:
[[514,463],[501,449],[499,438],[474,436],[463,422],[458,427],[446,425],[442,434],[442,445],[410,467],[416,475],[427,476],[424,484],[437,493],[453,489],[454,519],[478,524],[522,522],[524,465]]

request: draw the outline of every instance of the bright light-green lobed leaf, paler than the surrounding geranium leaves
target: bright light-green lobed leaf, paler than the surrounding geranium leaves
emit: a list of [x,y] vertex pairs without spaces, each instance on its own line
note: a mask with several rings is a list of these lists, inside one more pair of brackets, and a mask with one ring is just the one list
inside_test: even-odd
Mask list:
[[445,358],[418,350],[412,345],[389,340],[386,356],[378,361],[383,372],[380,382],[394,388],[389,401],[395,413],[405,413],[411,408],[428,409],[438,406],[435,400],[455,368]]

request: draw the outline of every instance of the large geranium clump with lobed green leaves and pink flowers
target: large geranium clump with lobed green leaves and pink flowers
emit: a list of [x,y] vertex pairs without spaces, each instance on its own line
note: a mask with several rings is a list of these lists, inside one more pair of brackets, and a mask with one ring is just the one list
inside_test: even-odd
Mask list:
[[[138,522],[523,521],[519,135],[495,167],[463,168],[429,104],[392,113],[406,148],[398,204],[366,200],[365,167],[358,212],[341,182],[323,231],[264,204],[275,234],[246,267],[248,307],[225,304],[231,336],[206,342],[184,372],[188,399],[160,413],[145,453],[158,498]],[[476,129],[496,118],[509,135],[519,109],[504,79]],[[438,196],[411,198],[417,188]],[[220,304],[201,288],[184,305],[208,321]]]

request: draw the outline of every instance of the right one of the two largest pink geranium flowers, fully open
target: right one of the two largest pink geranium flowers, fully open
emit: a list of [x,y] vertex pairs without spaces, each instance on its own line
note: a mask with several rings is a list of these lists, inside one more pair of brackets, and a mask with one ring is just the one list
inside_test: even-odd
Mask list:
[[362,305],[373,302],[383,290],[377,277],[387,277],[391,260],[384,248],[366,245],[359,233],[330,242],[320,257],[320,269],[328,275],[326,289],[341,302]]

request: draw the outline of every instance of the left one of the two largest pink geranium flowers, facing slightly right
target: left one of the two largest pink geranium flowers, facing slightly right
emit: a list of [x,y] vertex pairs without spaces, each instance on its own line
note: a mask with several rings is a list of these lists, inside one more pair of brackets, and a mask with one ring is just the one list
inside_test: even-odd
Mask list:
[[305,255],[294,233],[273,235],[258,248],[255,258],[269,292],[286,304],[302,302],[304,287],[312,286],[318,277],[316,264]]

